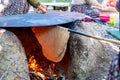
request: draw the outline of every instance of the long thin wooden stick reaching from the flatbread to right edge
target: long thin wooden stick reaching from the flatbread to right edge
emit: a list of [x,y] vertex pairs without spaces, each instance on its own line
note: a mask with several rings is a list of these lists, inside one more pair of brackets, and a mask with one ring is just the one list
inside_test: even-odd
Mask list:
[[76,34],[79,34],[79,35],[82,35],[82,36],[86,36],[86,37],[90,37],[90,38],[93,38],[93,39],[103,40],[103,41],[107,41],[107,42],[111,42],[111,43],[115,43],[115,44],[120,44],[120,41],[118,41],[118,40],[112,40],[112,39],[106,39],[106,38],[102,38],[102,37],[98,37],[98,36],[88,35],[88,34],[81,33],[79,31],[72,30],[72,29],[65,28],[65,27],[60,27],[60,28],[65,29],[67,31],[70,31],[72,33],[76,33]]

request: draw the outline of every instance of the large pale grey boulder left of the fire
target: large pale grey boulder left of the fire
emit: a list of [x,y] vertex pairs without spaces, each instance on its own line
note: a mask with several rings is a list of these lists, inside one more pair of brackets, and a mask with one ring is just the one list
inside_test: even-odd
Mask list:
[[21,42],[5,29],[0,29],[0,80],[30,80]]

